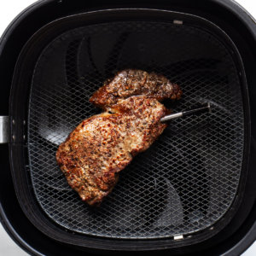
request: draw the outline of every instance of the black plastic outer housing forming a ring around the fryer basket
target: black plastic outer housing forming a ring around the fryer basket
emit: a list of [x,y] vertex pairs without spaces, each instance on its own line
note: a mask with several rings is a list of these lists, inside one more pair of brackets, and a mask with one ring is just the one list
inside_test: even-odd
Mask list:
[[[254,73],[256,67],[256,47],[255,47],[255,23],[241,7],[233,1],[158,1],[158,3],[147,3],[143,1],[132,1],[125,3],[108,3],[100,6],[96,2],[84,3],[84,1],[39,1],[31,8],[27,9],[14,23],[9,26],[3,34],[0,44],[0,73],[2,83],[1,87],[1,106],[0,114],[9,114],[9,90],[12,76],[15,71],[15,63],[20,55],[21,49],[32,34],[42,26],[52,20],[64,17],[66,15],[82,13],[96,9],[115,9],[115,8],[154,8],[166,9],[172,11],[186,12],[192,15],[199,15],[207,20],[211,20],[226,32],[238,48],[241,59],[245,66],[249,97],[251,99],[251,119],[252,119],[252,139],[251,153],[249,159],[249,168],[247,176],[246,191],[241,201],[241,206],[231,219],[224,230],[216,236],[212,236],[206,242],[196,245],[172,248],[162,250],[161,253],[173,255],[240,255],[256,238],[256,205],[255,201],[255,150],[254,143],[256,124],[255,115],[256,102],[253,101],[256,94]],[[47,13],[47,15],[45,15]],[[12,103],[12,102],[10,102]],[[17,131],[22,133],[21,131]],[[15,195],[15,189],[10,174],[8,145],[1,145],[1,162],[3,178],[0,181],[0,203],[1,203],[1,221],[9,235],[20,245],[27,253],[32,255],[82,255],[84,250],[90,253],[113,254],[106,250],[95,250],[83,247],[67,247],[67,244],[61,244],[49,239],[26,218],[21,211],[19,202]],[[247,155],[249,156],[249,155]],[[12,156],[11,156],[12,157]],[[15,163],[18,164],[18,163]],[[19,181],[17,181],[19,182]],[[19,216],[19,218],[17,218]],[[117,246],[118,241],[115,241]],[[48,246],[45,247],[45,244]],[[162,247],[164,249],[165,247]],[[125,249],[125,248],[123,248]],[[134,245],[136,249],[136,245]],[[126,249],[127,250],[127,249]],[[129,249],[128,249],[129,250]],[[116,252],[118,254],[119,252]],[[128,254],[128,252],[127,252]],[[140,253],[141,254],[141,253]]]

